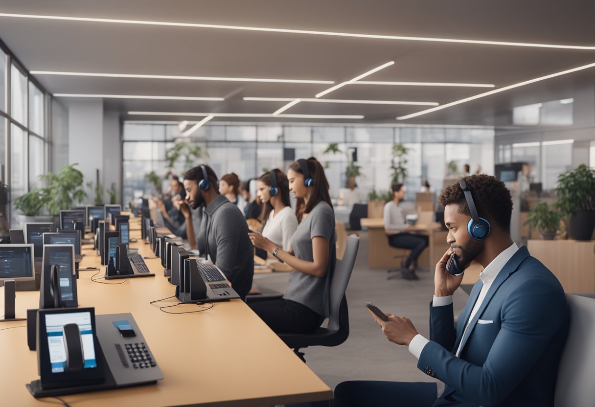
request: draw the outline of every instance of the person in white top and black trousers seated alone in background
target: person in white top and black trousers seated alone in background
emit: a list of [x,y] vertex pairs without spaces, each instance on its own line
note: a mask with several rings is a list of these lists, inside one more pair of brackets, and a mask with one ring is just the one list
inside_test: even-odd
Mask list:
[[389,245],[393,248],[410,249],[409,256],[405,260],[405,268],[401,270],[405,280],[419,280],[415,274],[415,265],[421,252],[428,247],[428,237],[422,234],[407,233],[411,227],[406,226],[405,217],[399,202],[405,198],[405,187],[403,184],[394,184],[392,187],[393,200],[384,205],[384,230],[389,235]]

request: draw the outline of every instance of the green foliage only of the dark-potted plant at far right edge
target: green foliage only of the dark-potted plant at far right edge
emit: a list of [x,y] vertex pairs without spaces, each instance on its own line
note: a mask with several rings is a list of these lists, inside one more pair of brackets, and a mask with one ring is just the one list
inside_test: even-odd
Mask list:
[[558,176],[556,207],[564,215],[595,211],[595,170],[585,164]]

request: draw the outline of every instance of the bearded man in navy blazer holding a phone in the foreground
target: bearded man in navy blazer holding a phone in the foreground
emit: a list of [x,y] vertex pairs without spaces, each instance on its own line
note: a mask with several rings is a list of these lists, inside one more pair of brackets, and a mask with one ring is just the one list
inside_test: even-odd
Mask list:
[[[509,235],[511,195],[502,181],[465,177],[440,195],[450,249],[436,265],[430,340],[408,318],[388,315],[384,335],[407,345],[417,367],[435,383],[348,381],[335,389],[336,406],[553,406],[568,308],[558,279]],[[464,270],[484,266],[454,327],[452,295],[462,273],[446,270],[453,257]],[[373,315],[373,314],[372,314]]]

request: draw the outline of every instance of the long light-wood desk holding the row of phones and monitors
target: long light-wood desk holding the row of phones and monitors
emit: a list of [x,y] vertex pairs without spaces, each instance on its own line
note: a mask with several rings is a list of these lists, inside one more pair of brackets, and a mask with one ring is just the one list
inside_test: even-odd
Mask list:
[[[137,237],[137,236],[136,236]],[[138,238],[138,237],[137,237]],[[132,246],[151,255],[148,245]],[[84,248],[84,247],[83,247]],[[105,267],[92,250],[84,250],[80,267]],[[97,271],[80,271],[79,306],[95,306],[96,314],[131,312],[142,330],[164,380],[105,392],[64,396],[73,407],[130,406],[261,406],[327,400],[333,393],[306,364],[241,300],[215,303],[194,314],[171,315],[150,305],[152,300],[174,294],[163,277],[159,259],[147,259],[155,277],[130,278],[108,284],[92,282]],[[173,305],[174,299],[161,306]],[[17,292],[17,317],[37,308],[39,292]],[[195,311],[197,305],[168,308],[171,312]],[[4,312],[0,289],[0,314]],[[0,323],[0,329],[25,325],[25,321]],[[36,400],[25,384],[36,378],[37,355],[27,347],[26,328],[0,331],[0,405],[40,406],[58,403]]]

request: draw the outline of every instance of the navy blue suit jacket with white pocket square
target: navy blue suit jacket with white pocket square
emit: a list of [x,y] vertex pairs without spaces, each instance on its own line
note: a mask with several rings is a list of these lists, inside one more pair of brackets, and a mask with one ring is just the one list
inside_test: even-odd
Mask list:
[[430,305],[430,342],[418,368],[446,384],[433,406],[553,407],[568,334],[568,306],[558,278],[527,248],[519,248],[463,336],[482,285],[475,283],[456,330],[452,304]]

